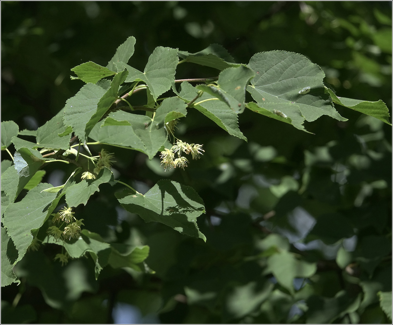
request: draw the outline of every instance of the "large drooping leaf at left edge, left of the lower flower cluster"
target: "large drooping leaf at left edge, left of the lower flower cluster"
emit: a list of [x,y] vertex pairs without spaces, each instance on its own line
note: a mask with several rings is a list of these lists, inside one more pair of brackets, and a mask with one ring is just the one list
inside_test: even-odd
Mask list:
[[55,193],[42,192],[51,186],[48,183],[37,185],[28,191],[20,202],[9,204],[4,213],[2,221],[18,250],[17,261],[22,259],[33,241],[31,230],[40,228],[44,224],[49,212],[48,207],[56,198]]

